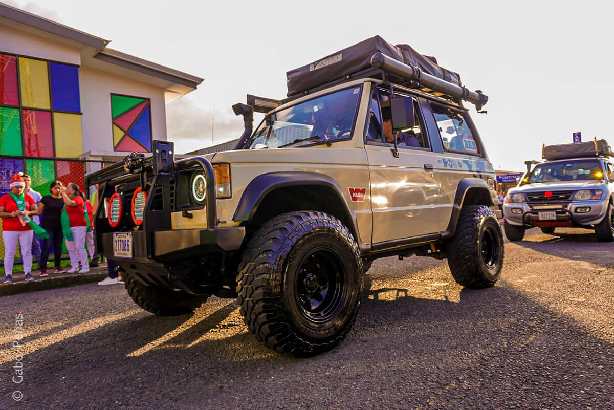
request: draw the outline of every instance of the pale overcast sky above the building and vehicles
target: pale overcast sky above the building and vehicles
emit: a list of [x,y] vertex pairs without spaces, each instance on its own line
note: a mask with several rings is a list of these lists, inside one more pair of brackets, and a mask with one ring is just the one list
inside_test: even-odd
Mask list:
[[286,71],[375,34],[437,56],[489,96],[488,114],[472,106],[472,117],[495,168],[521,171],[573,131],[614,144],[608,2],[7,2],[203,77],[167,107],[177,152],[211,145],[213,107],[216,144],[234,139],[243,121],[231,104],[248,93],[282,98]]

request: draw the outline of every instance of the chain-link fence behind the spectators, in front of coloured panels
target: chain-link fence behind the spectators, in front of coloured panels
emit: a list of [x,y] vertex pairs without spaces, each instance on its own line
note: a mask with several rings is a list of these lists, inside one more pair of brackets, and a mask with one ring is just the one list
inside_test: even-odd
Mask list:
[[[75,158],[41,158],[14,155],[0,155],[0,196],[9,193],[10,178],[15,172],[28,174],[32,180],[31,189],[42,196],[50,195],[49,187],[55,180],[62,184],[77,184],[85,191],[85,176],[99,171],[114,161],[78,160]],[[90,188],[91,193],[95,188]],[[44,214],[42,215],[44,217]],[[1,239],[0,226],[0,266],[4,266],[4,241]],[[62,258],[68,258],[66,247],[63,246]],[[53,248],[49,254],[49,265],[53,265]],[[21,263],[19,249],[15,255],[15,265]]]

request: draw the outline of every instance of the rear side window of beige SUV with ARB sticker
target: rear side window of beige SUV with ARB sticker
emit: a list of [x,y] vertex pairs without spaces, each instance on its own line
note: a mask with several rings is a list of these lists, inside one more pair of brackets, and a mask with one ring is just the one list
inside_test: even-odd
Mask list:
[[465,120],[465,114],[439,104],[430,105],[435,122],[437,122],[443,149],[446,152],[480,155],[473,132]]

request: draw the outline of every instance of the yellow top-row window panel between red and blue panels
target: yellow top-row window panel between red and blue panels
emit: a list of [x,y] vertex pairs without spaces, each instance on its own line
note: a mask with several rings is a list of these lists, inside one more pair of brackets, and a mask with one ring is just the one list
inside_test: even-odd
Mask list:
[[19,58],[21,106],[50,109],[47,61]]

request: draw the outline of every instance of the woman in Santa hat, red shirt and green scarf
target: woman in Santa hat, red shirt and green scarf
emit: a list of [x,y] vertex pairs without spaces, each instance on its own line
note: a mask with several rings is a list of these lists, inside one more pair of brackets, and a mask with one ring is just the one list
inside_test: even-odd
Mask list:
[[33,231],[29,225],[29,216],[36,215],[37,207],[34,198],[23,193],[25,183],[18,172],[10,179],[10,192],[0,196],[0,217],[2,218],[2,241],[4,242],[4,283],[12,282],[13,263],[17,242],[21,246],[21,260],[26,280],[32,277],[32,237]]

